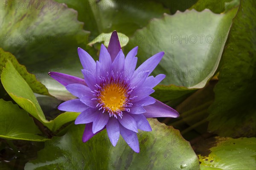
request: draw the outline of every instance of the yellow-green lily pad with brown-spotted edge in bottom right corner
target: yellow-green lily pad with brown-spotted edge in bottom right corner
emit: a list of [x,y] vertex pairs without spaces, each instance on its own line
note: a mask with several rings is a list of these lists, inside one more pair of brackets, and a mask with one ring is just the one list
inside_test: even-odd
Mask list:
[[256,138],[215,137],[208,142],[199,146],[201,170],[255,170]]

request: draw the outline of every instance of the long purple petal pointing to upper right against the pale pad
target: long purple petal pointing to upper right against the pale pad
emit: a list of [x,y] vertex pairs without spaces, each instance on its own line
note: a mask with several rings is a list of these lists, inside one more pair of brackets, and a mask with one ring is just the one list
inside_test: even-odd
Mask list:
[[136,73],[140,72],[140,70],[144,70],[144,71],[149,71],[148,75],[150,75],[152,71],[157,67],[161,59],[163,58],[163,55],[164,55],[164,52],[162,51],[150,57],[137,68]]

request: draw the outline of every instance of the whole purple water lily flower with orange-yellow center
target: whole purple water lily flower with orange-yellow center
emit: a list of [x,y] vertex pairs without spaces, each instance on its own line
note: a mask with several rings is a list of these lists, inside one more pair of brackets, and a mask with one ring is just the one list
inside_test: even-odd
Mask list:
[[138,47],[133,48],[125,57],[114,31],[108,49],[101,46],[99,61],[95,62],[86,51],[78,48],[84,79],[49,73],[79,98],[62,103],[58,109],[81,112],[75,124],[86,124],[83,142],[106,128],[113,146],[121,134],[127,144],[139,153],[138,129],[152,130],[146,118],[179,116],[177,111],[149,96],[154,92],[152,88],[165,78],[164,74],[149,76],[164,52],[155,54],[135,69],[137,50]]

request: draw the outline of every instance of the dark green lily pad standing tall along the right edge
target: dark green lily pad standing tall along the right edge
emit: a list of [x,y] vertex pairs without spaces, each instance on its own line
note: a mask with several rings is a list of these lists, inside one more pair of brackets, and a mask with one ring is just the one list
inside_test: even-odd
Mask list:
[[[241,1],[215,86],[208,130],[219,136],[256,136],[256,1]],[[246,9],[246,10],[245,10]]]

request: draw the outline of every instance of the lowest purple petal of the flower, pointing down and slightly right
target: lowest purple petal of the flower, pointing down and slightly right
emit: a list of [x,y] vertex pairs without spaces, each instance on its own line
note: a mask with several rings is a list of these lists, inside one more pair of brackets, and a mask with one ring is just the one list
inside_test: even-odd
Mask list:
[[134,152],[140,152],[140,144],[136,132],[126,129],[122,125],[119,126],[120,134],[122,135],[125,142],[131,147]]

